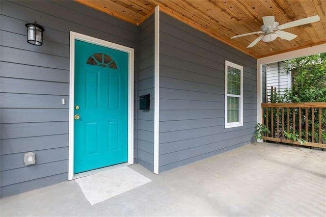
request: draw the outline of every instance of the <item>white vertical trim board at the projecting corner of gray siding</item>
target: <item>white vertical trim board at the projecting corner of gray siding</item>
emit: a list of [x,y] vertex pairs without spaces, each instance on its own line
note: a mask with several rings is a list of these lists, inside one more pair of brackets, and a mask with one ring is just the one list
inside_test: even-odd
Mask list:
[[159,6],[155,7],[154,38],[154,173],[158,174],[159,160]]

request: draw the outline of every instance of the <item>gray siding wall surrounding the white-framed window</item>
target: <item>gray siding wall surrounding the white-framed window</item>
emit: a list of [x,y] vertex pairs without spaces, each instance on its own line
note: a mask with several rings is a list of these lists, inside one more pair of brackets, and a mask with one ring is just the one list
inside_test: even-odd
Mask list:
[[[225,60],[243,66],[243,127],[225,129]],[[159,171],[250,143],[256,60],[161,13]]]

